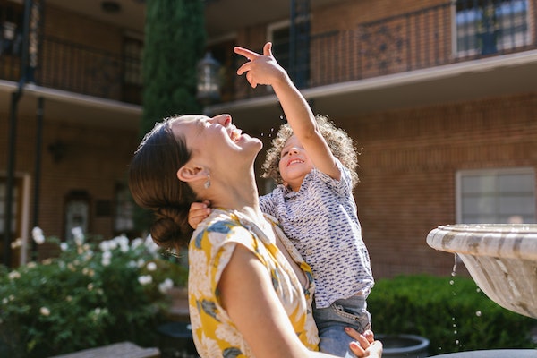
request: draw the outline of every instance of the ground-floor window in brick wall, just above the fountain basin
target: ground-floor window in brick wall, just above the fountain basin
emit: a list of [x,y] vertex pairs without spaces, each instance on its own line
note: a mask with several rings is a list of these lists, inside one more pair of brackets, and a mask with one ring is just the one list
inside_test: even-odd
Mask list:
[[458,223],[535,223],[532,168],[461,171],[456,192]]

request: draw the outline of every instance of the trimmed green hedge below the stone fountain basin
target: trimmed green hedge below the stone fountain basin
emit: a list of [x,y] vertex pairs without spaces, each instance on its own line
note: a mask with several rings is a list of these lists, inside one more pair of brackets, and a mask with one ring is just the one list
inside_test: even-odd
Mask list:
[[537,320],[492,302],[468,277],[380,279],[368,298],[373,331],[430,340],[429,354],[532,348]]

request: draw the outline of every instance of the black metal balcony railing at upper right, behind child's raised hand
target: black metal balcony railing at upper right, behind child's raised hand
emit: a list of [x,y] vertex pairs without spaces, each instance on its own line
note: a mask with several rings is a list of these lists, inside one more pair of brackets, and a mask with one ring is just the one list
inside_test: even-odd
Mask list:
[[[312,34],[309,61],[295,68],[312,88],[528,51],[536,23],[537,0],[456,0]],[[266,94],[237,89],[235,99]]]

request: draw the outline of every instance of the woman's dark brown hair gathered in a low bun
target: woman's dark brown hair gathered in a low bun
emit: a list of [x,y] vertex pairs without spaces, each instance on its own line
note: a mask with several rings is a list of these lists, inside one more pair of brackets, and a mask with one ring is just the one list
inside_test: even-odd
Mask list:
[[158,246],[179,249],[188,243],[192,227],[188,211],[196,195],[188,183],[177,178],[177,170],[191,158],[183,138],[176,138],[170,121],[145,135],[129,168],[132,198],[141,208],[155,213],[151,237]]

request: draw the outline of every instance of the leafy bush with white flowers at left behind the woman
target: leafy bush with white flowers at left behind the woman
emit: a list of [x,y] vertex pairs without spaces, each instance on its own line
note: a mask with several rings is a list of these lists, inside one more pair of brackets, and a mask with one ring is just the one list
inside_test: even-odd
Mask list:
[[155,345],[166,290],[185,268],[163,260],[150,237],[98,243],[78,232],[72,243],[47,242],[61,246],[59,257],[0,267],[1,356],[47,357],[124,340]]

